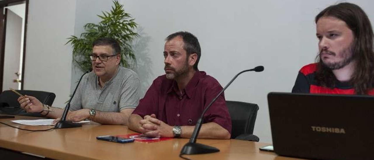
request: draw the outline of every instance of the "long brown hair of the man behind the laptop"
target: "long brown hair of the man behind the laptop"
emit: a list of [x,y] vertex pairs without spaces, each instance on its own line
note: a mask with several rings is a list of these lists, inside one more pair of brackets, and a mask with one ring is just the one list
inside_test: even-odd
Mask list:
[[[352,30],[355,36],[352,50],[357,63],[350,83],[353,85],[356,94],[367,94],[374,84],[374,36],[368,16],[361,7],[352,3],[339,3],[327,7],[316,16],[316,24],[321,17],[325,16],[332,16],[346,22],[349,29]],[[335,87],[335,81],[337,80],[331,69],[325,67],[319,56],[317,59],[317,83],[325,87]]]

